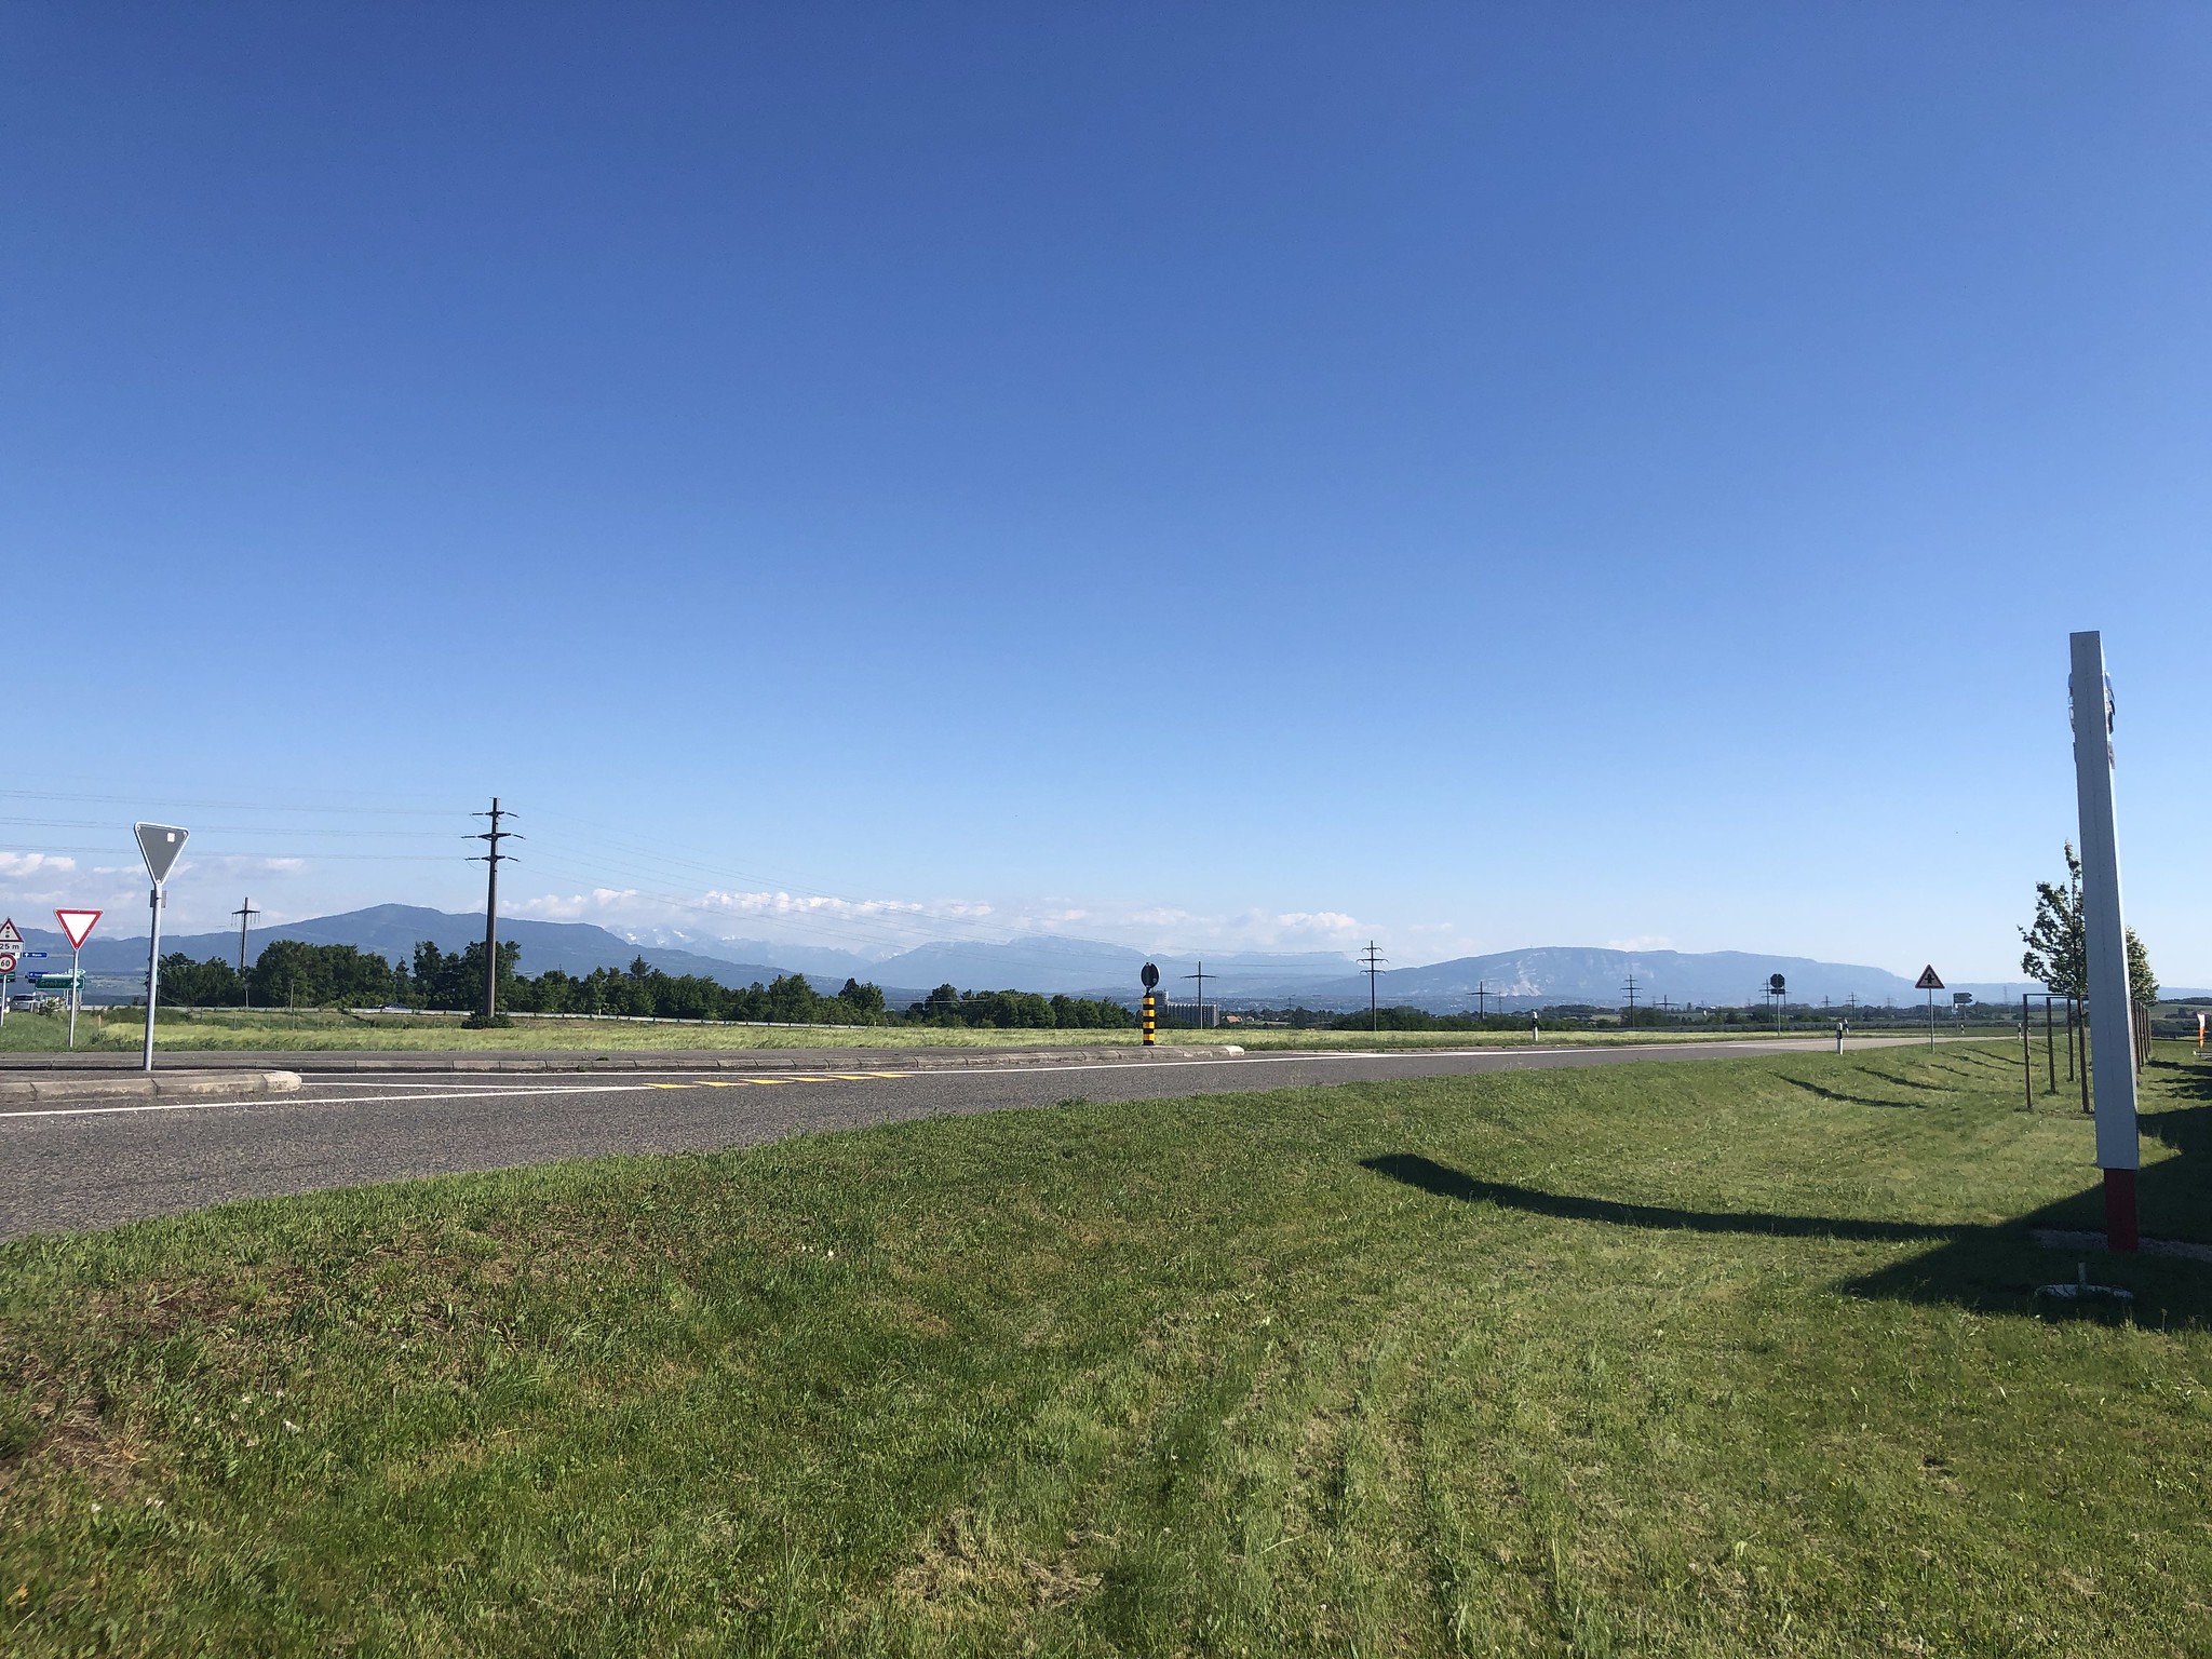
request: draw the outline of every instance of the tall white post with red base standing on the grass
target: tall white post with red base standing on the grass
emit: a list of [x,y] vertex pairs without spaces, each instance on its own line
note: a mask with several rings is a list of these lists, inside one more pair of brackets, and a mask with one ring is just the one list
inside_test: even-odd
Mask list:
[[2119,832],[2112,816],[2112,688],[2104,637],[2073,646],[2075,799],[2081,814],[2081,920],[2088,933],[2088,1029],[2097,1084],[2097,1168],[2104,1170],[2104,1232],[2112,1250],[2135,1250],[2135,1020],[2130,1018],[2128,929],[2119,914]]

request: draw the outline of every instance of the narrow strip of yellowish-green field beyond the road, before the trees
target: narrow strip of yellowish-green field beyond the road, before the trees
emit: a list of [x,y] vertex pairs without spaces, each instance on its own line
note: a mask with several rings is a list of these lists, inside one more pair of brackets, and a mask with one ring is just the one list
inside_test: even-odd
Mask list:
[[[137,1053],[146,1015],[113,1018],[91,1009],[77,1015],[77,1048],[86,1053]],[[515,1020],[502,1031],[469,1031],[458,1013],[378,1015],[316,1009],[312,1013],[261,1011],[164,1011],[155,1024],[161,1053],[192,1051],[358,1051],[358,1048],[469,1048],[469,1051],[630,1051],[630,1048],[1013,1048],[1013,1046],[1106,1046],[1133,1044],[1135,1031],[980,1031],[967,1026],[739,1026],[677,1020]],[[0,1026],[0,1055],[55,1053],[69,1022],[49,1015],[11,1013]],[[1683,1031],[1546,1031],[1544,1042],[1710,1042],[1714,1037],[1765,1037],[1763,1029],[1714,1026]],[[1798,1033],[1816,1035],[1816,1033]],[[1900,1033],[1900,1035],[1911,1035]],[[1949,1035],[1949,1029],[1947,1029]],[[1469,1048],[1520,1046],[1526,1031],[1283,1031],[1219,1026],[1214,1031],[1161,1031],[1166,1044],[1221,1044],[1245,1048]]]

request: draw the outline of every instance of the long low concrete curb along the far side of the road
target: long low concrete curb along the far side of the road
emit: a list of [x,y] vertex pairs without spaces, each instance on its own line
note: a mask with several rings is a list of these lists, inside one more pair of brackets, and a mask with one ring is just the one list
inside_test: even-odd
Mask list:
[[[274,1064],[285,1066],[272,1077],[296,1077],[299,1073],[597,1073],[597,1071],[956,1071],[993,1066],[1037,1066],[1037,1064],[1130,1064],[1152,1062],[1166,1066],[1190,1066],[1208,1060],[1234,1060],[1243,1055],[1239,1044],[1177,1044],[1172,1048],[1141,1048],[1137,1044],[1084,1046],[1084,1048],[637,1048],[593,1053],[407,1053],[407,1051],[314,1051],[215,1055],[192,1053],[190,1060],[173,1055],[175,1064],[190,1064],[190,1073],[155,1073],[164,1077],[232,1077],[232,1084],[210,1084],[223,1088],[243,1086],[243,1075],[254,1075]],[[20,1064],[29,1060],[29,1064]],[[0,1071],[0,1099],[24,1088],[106,1088],[111,1093],[146,1093],[146,1075],[124,1073],[106,1055],[104,1068],[77,1062],[69,1066],[77,1073],[69,1084],[60,1079],[31,1082],[27,1071],[60,1073],[62,1066],[35,1057],[11,1055],[7,1071]],[[91,1075],[86,1075],[91,1073]],[[281,1091],[270,1091],[281,1093]]]

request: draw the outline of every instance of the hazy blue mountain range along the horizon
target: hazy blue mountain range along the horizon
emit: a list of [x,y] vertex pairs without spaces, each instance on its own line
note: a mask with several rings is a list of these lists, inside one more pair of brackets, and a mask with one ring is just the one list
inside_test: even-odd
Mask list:
[[[374,905],[343,916],[314,916],[254,929],[250,951],[279,938],[310,945],[356,945],[385,958],[407,958],[416,940],[434,940],[442,951],[460,951],[484,933],[480,916],[425,909],[420,905]],[[24,927],[31,949],[49,956],[35,967],[69,967],[69,940],[51,929]],[[1126,945],[1033,933],[998,945],[933,942],[869,960],[854,951],[768,940],[717,940],[666,931],[630,940],[595,922],[502,920],[500,938],[522,947],[520,971],[591,973],[626,969],[639,956],[664,973],[699,973],[723,984],[752,984],[779,973],[805,973],[818,991],[836,991],[847,978],[874,980],[894,1006],[922,998],[931,987],[964,991],[1042,991],[1133,1000],[1141,993],[1139,969],[1159,967],[1161,993],[1190,1002],[1197,973],[1206,973],[1206,1000],[1230,1006],[1358,1009],[1367,1004],[1367,978],[1340,951],[1223,951],[1181,956],[1137,951]],[[206,960],[237,960],[237,933],[181,933],[161,940],[164,956],[184,951]],[[27,964],[33,967],[33,964]],[[146,936],[102,938],[84,945],[84,969],[113,995],[144,989]],[[1790,1002],[1920,1002],[1920,991],[1900,973],[1847,962],[1816,962],[1803,956],[1756,956],[1747,951],[1615,951],[1542,947],[1462,956],[1453,962],[1385,969],[1376,995],[1387,1006],[1418,1006],[1458,1013],[1482,1006],[1533,1009],[1562,1002],[1619,1006],[1628,975],[1637,980],[1637,1002],[1745,1004],[1759,1002],[1772,973],[1787,980]],[[1951,982],[1991,1002],[2017,1000],[2035,991],[2026,982]],[[2174,987],[2170,995],[2190,995]]]

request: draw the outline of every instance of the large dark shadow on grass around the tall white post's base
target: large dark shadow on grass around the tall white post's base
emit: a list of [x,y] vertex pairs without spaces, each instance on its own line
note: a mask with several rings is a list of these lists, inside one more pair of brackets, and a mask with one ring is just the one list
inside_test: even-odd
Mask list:
[[[2205,1082],[2212,1095],[2212,1077]],[[1896,1102],[1876,1102],[1896,1104]],[[2146,1237],[2205,1237],[2205,1199],[2199,1170],[2212,1152],[2212,1106],[2188,1106],[2143,1119],[2146,1135],[2181,1157],[2143,1170],[2139,1206]],[[2139,1325],[2212,1325],[2212,1267],[2172,1256],[2097,1252],[2090,1279],[2135,1292],[2132,1310],[2112,1303],[2039,1298],[2037,1285],[2075,1276],[2075,1256],[2035,1243],[2035,1228],[2104,1232],[2104,1186],[2084,1188],[2059,1203],[2000,1225],[1942,1225],[1931,1221],[1869,1221],[1860,1217],[1772,1214],[1763,1210],[1683,1210],[1668,1203],[1621,1203],[1566,1192],[1482,1181],[1418,1152],[1363,1159],[1363,1168],[1440,1199],[1495,1203],[1555,1221],[1597,1221],[1615,1228],[1741,1234],[1770,1239],[1849,1239],[1869,1243],[1924,1243],[1929,1250],[1893,1267],[1836,1285],[1847,1296],[1909,1303],[1951,1303],[1980,1314],[2026,1314],[2046,1321]]]

